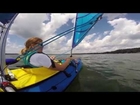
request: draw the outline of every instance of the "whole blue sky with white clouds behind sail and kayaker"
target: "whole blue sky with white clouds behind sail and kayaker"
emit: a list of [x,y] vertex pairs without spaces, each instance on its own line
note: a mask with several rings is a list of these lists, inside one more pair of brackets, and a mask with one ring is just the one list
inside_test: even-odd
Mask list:
[[[25,41],[33,36],[44,41],[70,29],[76,13],[20,13],[9,31],[6,53],[19,53]],[[44,47],[48,54],[70,51],[72,33]],[[140,47],[139,13],[104,13],[74,53],[95,53],[117,49]],[[70,53],[70,52],[68,52]]]

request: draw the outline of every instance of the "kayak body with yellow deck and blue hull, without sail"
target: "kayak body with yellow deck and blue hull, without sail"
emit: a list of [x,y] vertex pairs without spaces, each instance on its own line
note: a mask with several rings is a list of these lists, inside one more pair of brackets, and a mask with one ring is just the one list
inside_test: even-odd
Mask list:
[[[65,60],[55,62],[61,65]],[[76,59],[76,62],[73,60],[64,71],[21,66],[10,70],[15,78],[10,83],[17,92],[64,92],[81,69],[81,59]]]

